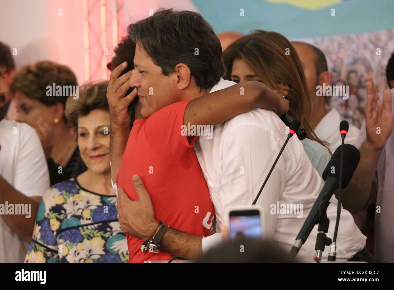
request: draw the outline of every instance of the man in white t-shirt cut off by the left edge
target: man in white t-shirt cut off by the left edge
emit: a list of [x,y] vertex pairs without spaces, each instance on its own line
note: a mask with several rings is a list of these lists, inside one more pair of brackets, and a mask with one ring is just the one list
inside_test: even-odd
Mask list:
[[[0,76],[0,95],[3,82]],[[0,100],[0,110],[3,105]],[[48,188],[48,167],[34,129],[0,118],[0,263],[23,262]]]

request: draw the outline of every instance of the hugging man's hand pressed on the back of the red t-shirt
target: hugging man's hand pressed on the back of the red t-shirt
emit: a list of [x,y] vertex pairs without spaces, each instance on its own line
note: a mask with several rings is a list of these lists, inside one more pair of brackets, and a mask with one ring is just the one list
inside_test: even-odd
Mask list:
[[134,175],[133,185],[138,194],[138,200],[131,200],[126,192],[118,189],[118,219],[121,230],[130,236],[148,239],[156,230],[158,222],[154,219],[151,197],[138,175]]

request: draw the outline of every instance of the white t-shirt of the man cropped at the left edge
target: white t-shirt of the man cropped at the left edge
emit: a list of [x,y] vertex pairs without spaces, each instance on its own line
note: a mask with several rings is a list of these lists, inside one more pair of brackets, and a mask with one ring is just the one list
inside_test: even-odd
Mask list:
[[[42,196],[50,187],[49,173],[34,129],[25,123],[2,120],[0,145],[0,174],[3,178],[26,196]],[[27,247],[28,242],[0,217],[0,263],[22,263]]]

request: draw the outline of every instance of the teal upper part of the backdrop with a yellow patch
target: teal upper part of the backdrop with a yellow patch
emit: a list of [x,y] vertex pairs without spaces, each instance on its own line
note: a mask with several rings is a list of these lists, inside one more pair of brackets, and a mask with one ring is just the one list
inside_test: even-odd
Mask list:
[[[225,30],[249,33],[253,29],[264,29],[279,32],[288,38],[305,38],[360,34],[394,28],[393,0],[192,2],[216,33]],[[332,15],[333,12],[335,16]]]

